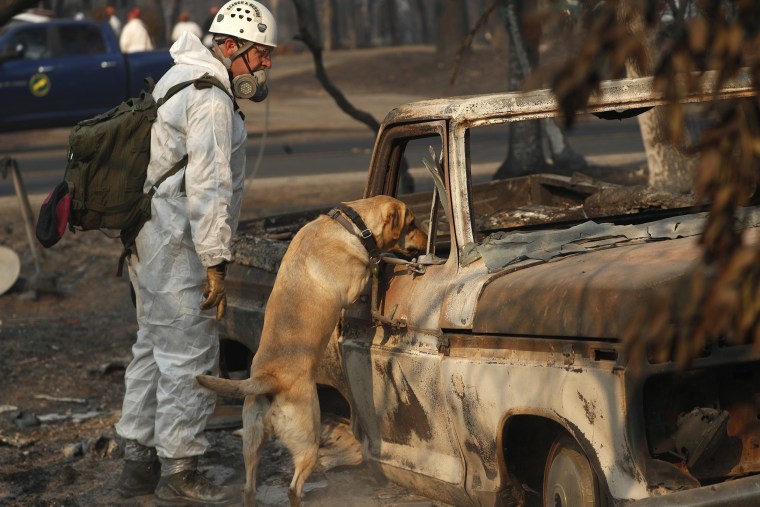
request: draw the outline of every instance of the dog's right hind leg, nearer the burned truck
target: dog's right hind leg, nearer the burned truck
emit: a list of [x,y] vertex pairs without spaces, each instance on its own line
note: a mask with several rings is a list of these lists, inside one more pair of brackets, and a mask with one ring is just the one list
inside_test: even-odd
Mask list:
[[301,493],[306,479],[317,464],[319,453],[319,400],[317,387],[304,386],[300,393],[289,392],[285,397],[278,397],[278,404],[273,414],[274,432],[288,448],[293,458],[295,473],[288,488],[291,507],[301,505]]

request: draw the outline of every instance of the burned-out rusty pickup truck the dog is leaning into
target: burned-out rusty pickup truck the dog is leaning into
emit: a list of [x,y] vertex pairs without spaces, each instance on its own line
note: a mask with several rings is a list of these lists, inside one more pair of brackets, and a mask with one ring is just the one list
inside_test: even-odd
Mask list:
[[[686,101],[755,93],[749,79],[711,86]],[[662,104],[648,79],[610,81],[587,113]],[[345,313],[322,359],[322,410],[350,419],[379,473],[457,506],[760,504],[757,351],[718,343],[678,372],[668,360],[632,364],[622,342],[657,291],[687,290],[706,215],[683,196],[626,186],[646,162],[616,139],[636,119],[579,120],[586,133],[570,140],[594,177],[493,179],[510,125],[558,114],[544,90],[386,117],[365,196],[405,201],[429,243],[413,262],[385,258]],[[418,191],[401,195],[405,160]],[[326,211],[241,224],[229,374],[255,353],[288,239]],[[737,222],[756,243],[760,208]]]

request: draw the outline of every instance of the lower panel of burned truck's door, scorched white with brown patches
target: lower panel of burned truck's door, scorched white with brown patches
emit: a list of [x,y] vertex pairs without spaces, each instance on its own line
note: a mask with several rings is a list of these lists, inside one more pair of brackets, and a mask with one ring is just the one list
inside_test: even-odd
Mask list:
[[343,354],[366,457],[461,486],[464,463],[438,380],[442,357],[406,331],[377,328],[371,346],[364,339],[347,337]]

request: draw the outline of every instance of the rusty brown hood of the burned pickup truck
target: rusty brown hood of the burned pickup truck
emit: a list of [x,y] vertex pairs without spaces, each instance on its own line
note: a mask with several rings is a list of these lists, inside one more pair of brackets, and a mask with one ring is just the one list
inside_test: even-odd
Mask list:
[[620,338],[663,287],[688,284],[694,238],[565,257],[495,277],[481,293],[472,330],[483,334]]

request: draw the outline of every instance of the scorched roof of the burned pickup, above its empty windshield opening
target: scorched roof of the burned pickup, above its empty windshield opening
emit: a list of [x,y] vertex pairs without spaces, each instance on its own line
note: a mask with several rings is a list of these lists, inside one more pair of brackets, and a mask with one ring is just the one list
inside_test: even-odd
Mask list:
[[[683,102],[748,97],[756,95],[750,73],[741,69],[737,75],[723,84],[713,95],[718,75],[714,71],[705,72],[701,88],[686,94]],[[648,108],[666,102],[661,91],[655,90],[651,77],[604,81],[599,90],[591,95],[587,112],[628,110]],[[401,105],[388,113],[384,125],[413,123],[431,119],[451,120],[456,123],[470,123],[492,118],[520,120],[561,116],[557,99],[550,89],[529,92],[493,93],[423,100]]]

